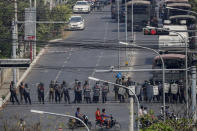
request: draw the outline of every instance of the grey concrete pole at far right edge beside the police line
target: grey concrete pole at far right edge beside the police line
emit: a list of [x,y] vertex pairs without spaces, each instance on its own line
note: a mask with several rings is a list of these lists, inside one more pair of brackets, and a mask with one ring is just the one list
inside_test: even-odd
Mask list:
[[196,123],[196,66],[192,66],[192,115]]

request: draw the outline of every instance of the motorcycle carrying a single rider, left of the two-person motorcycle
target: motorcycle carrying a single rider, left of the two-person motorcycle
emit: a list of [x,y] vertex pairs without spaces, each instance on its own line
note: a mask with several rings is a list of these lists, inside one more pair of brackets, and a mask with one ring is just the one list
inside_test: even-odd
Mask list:
[[[92,123],[88,120],[88,116],[83,115],[83,122],[88,126],[89,129],[92,127]],[[68,120],[68,127],[69,129],[76,129],[79,127],[85,127],[85,125],[80,122],[79,120],[76,120],[74,118],[70,118]]]

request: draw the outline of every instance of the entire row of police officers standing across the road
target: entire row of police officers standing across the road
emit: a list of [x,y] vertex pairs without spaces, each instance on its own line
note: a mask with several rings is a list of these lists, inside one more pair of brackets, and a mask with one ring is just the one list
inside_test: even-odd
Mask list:
[[[116,86],[111,87],[108,83],[96,82],[93,87],[90,86],[88,81],[83,84],[75,80],[74,86],[69,86],[66,81],[59,83],[57,81],[51,81],[49,84],[49,92],[45,94],[46,87],[42,82],[37,85],[37,97],[40,104],[45,104],[45,96],[48,96],[48,102],[50,103],[98,103],[100,100],[102,103],[106,103],[108,100],[108,93],[111,91],[114,93],[114,99],[110,101],[119,101],[124,103],[125,100],[133,96],[133,93],[127,89],[124,89],[118,85],[123,85],[130,88],[138,97],[139,101],[144,102],[162,102],[163,100],[163,86],[162,83],[154,83],[145,81],[143,84],[136,83],[131,80],[130,77],[117,77],[115,83]],[[27,83],[21,82],[19,85],[20,100],[17,98],[17,91],[13,86],[13,82],[10,84],[11,97],[10,101],[14,104],[23,103],[31,104],[30,88]],[[110,90],[113,88],[113,90]],[[70,97],[70,92],[73,91],[74,97]],[[165,83],[165,100],[169,103],[185,103],[185,89],[182,81]],[[73,96],[73,95],[72,95]]]

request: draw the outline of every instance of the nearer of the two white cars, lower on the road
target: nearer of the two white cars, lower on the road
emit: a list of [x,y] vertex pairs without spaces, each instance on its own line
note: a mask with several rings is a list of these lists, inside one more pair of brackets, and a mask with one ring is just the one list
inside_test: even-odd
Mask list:
[[84,30],[85,24],[84,19],[81,16],[71,16],[69,19],[68,29],[69,30]]

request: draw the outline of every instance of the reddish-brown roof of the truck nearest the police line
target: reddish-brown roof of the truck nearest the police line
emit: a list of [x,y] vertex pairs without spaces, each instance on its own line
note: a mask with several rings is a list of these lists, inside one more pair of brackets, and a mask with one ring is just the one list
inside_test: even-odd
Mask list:
[[[182,54],[163,54],[161,55],[163,59],[185,59],[185,55]],[[156,56],[154,60],[160,59],[160,56]]]

